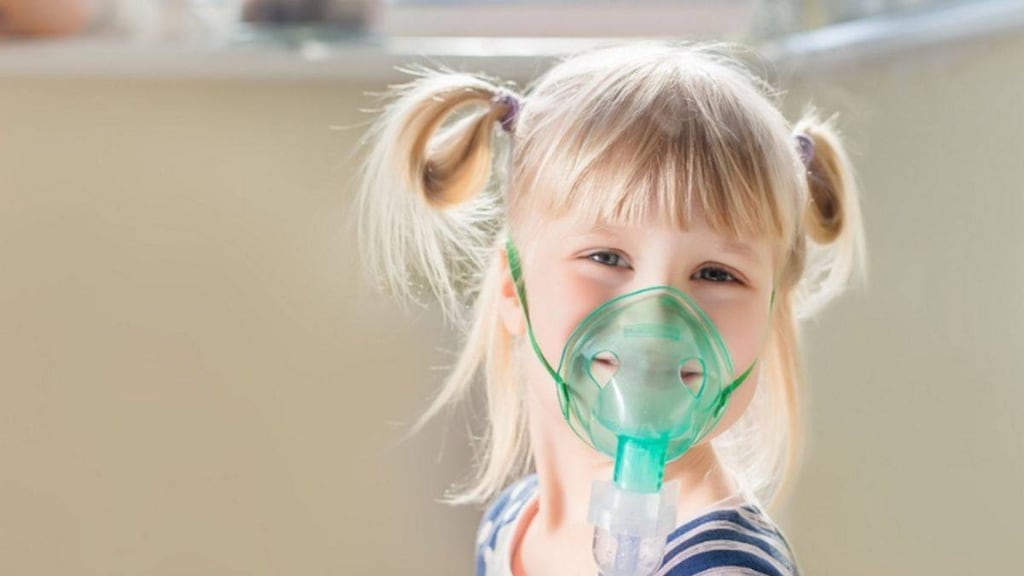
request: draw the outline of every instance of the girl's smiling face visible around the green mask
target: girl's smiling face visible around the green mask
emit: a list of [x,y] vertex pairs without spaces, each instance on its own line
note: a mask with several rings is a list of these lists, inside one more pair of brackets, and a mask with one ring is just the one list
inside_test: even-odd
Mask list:
[[[762,354],[774,270],[768,240],[732,243],[695,214],[688,231],[653,224],[593,225],[560,218],[539,224],[520,244],[534,335],[552,368],[557,369],[569,334],[594,308],[615,296],[655,285],[680,289],[708,314],[729,349],[733,377]],[[525,320],[508,274],[502,316],[509,332],[525,335]],[[523,367],[529,394],[539,397],[549,417],[560,419],[551,376],[535,355],[525,356],[532,359]],[[758,372],[755,368],[732,395],[726,413],[705,442],[742,414],[753,398]]]

